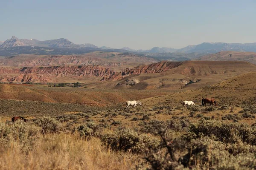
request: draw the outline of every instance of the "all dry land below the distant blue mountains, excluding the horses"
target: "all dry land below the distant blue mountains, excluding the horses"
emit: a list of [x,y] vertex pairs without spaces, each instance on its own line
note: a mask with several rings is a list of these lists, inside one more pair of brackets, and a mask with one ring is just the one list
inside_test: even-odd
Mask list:
[[236,61],[254,53],[230,53],[2,57],[1,169],[256,169],[256,65]]

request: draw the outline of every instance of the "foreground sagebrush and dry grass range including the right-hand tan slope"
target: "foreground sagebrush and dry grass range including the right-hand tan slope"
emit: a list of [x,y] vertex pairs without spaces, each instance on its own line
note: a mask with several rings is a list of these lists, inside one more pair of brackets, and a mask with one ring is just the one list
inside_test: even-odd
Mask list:
[[[0,168],[254,170],[255,81],[244,74],[143,99],[137,108],[2,99]],[[218,106],[202,107],[212,96]],[[185,99],[196,106],[183,107]],[[22,111],[33,118],[6,121]]]

